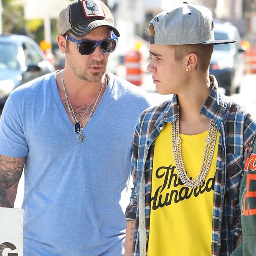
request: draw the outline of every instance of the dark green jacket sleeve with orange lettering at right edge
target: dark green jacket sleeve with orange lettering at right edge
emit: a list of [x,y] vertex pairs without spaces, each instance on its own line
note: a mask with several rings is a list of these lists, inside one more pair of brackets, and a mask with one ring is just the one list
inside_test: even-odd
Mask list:
[[256,255],[256,136],[245,162],[240,190],[243,242],[231,256]]

